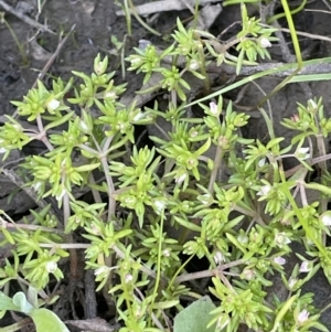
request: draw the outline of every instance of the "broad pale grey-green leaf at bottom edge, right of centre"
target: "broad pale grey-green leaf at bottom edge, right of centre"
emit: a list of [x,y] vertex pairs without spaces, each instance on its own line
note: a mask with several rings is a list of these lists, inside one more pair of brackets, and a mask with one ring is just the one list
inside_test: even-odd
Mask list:
[[173,332],[214,332],[215,326],[206,326],[215,308],[210,297],[193,302],[174,318]]

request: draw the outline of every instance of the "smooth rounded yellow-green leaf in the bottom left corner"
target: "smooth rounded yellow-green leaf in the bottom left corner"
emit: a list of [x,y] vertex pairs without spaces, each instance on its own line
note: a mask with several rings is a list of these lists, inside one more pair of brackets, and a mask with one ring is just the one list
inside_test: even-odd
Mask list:
[[51,310],[41,308],[30,312],[36,332],[70,332],[66,325]]

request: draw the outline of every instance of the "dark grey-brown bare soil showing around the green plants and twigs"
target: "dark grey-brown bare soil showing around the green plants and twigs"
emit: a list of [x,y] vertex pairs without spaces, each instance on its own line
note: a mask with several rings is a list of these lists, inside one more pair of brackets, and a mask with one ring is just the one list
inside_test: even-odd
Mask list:
[[[147,0],[135,0],[135,4],[147,2]],[[292,1],[293,2],[293,1]],[[295,1],[296,3],[298,1]],[[328,10],[323,1],[309,1],[309,9]],[[23,8],[25,14],[35,19],[36,1],[15,1],[7,0],[7,3],[13,8]],[[12,14],[6,14],[6,20],[14,31],[18,40],[23,46],[25,60],[20,53],[9,29],[4,24],[0,24],[0,115],[12,115],[14,111],[10,100],[20,100],[24,94],[33,86],[39,73],[42,71],[51,55],[55,52],[58,44],[58,32],[62,30],[65,33],[75,24],[74,32],[71,34],[64,46],[61,49],[58,56],[53,62],[47,71],[44,82],[47,84],[52,76],[61,76],[64,79],[70,77],[71,71],[82,71],[90,73],[93,60],[97,53],[108,54],[110,56],[111,69],[119,69],[119,58],[113,54],[114,45],[110,38],[116,36],[118,41],[122,41],[127,33],[125,19],[116,17],[115,11],[118,7],[111,0],[47,0],[39,18],[39,22],[47,24],[50,29],[55,31],[57,35],[52,35],[47,32],[41,32],[36,36],[35,30],[23,23]],[[254,12],[254,9],[250,9]],[[1,11],[1,7],[0,7]],[[189,11],[181,12],[164,12],[160,14],[154,22],[154,28],[163,33],[169,34],[175,25],[175,18],[189,18]],[[296,15],[296,24],[298,30],[303,32],[329,35],[330,34],[330,15],[321,12],[307,11]],[[236,7],[224,8],[221,15],[214,22],[211,31],[217,35],[223,29],[239,20],[239,11]],[[282,24],[284,21],[280,21]],[[228,36],[233,35],[233,30]],[[288,38],[288,35],[286,36]],[[130,53],[134,46],[138,46],[138,41],[141,39],[150,40],[151,42],[162,45],[163,40],[152,36],[134,19],[132,20],[132,36],[128,39],[127,53]],[[330,56],[331,44],[325,41],[311,40],[300,38],[302,49],[311,47],[308,58]],[[288,38],[289,41],[289,38]],[[42,46],[43,50],[40,50]],[[271,50],[273,58],[282,61],[281,52],[277,45]],[[120,71],[116,76],[118,83],[121,82]],[[141,77],[139,75],[129,74],[126,81],[130,82],[130,90],[141,87]],[[257,84],[266,93],[270,92],[280,81],[264,78],[257,81]],[[324,100],[324,109],[327,115],[331,115],[331,86],[330,82],[310,84],[312,94],[317,97],[322,96]],[[228,97],[236,98],[238,90],[228,94]],[[253,84],[249,85],[244,98],[241,100],[242,106],[255,106],[256,101],[263,97],[263,94]],[[301,86],[298,84],[288,85],[271,99],[271,109],[275,121],[276,136],[285,136],[287,138],[285,144],[289,143],[287,129],[279,126],[278,122],[284,117],[289,117],[296,113],[296,103],[305,104],[309,96],[305,94]],[[256,129],[258,128],[258,130]],[[263,119],[252,119],[247,137],[265,138],[266,126]],[[14,156],[13,160],[21,156]],[[289,164],[290,165],[290,164]],[[7,195],[12,186],[8,182],[1,183],[0,208],[10,211],[12,214],[23,214],[28,208],[34,205],[33,201],[26,199],[25,205],[20,202],[12,201],[9,208]],[[2,206],[3,205],[3,206]],[[327,283],[325,278],[320,275],[318,279],[308,286],[308,290],[317,294],[317,306],[322,308],[330,302],[331,288]],[[277,289],[275,289],[277,291]],[[280,289],[279,289],[280,291]],[[323,314],[323,322],[331,329],[331,311]]]

